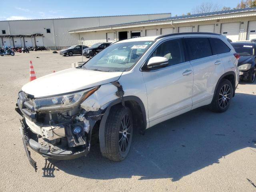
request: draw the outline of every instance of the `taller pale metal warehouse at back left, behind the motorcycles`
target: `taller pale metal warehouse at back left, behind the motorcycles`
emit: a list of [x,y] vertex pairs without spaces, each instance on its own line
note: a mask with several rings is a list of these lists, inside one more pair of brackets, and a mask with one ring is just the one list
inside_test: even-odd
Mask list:
[[[68,30],[170,17],[170,13],[64,19],[0,21],[0,46],[46,46],[60,49],[79,42]],[[111,37],[111,34],[110,38]],[[94,38],[100,38],[94,36]],[[101,41],[106,42],[106,34]]]

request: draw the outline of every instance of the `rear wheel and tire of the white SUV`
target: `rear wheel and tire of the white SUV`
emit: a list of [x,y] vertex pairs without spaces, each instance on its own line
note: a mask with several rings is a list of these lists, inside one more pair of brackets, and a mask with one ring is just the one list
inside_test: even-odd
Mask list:
[[218,85],[212,103],[210,104],[210,110],[214,112],[225,112],[233,97],[233,87],[229,80],[222,79]]

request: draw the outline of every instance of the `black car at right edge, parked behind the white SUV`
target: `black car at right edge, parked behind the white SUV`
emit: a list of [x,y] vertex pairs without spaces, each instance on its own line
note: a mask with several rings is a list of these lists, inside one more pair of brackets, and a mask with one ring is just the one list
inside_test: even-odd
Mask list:
[[238,60],[240,80],[246,80],[250,83],[254,82],[256,72],[256,43],[234,42],[232,46],[240,55]]

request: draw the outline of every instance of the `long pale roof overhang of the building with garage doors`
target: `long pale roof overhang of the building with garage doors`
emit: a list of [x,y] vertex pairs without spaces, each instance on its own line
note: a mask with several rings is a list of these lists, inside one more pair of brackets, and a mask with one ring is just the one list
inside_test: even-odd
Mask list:
[[137,27],[146,27],[146,26],[158,26],[158,25],[167,25],[167,24],[180,24],[188,22],[204,22],[210,20],[223,20],[223,19],[232,19],[232,18],[242,18],[242,17],[251,17],[256,16],[256,10],[248,10],[244,12],[234,12],[234,13],[225,13],[225,14],[213,14],[210,16],[196,16],[190,18],[179,18],[179,19],[166,19],[166,20],[156,20],[156,21],[143,21],[136,23],[127,23],[127,24],[118,24],[112,26],[100,26],[94,28],[84,28],[84,29],[75,29],[68,30],[69,33],[84,33],[84,32],[96,32],[96,31],[105,31],[105,30],[116,30],[124,28],[137,28]]

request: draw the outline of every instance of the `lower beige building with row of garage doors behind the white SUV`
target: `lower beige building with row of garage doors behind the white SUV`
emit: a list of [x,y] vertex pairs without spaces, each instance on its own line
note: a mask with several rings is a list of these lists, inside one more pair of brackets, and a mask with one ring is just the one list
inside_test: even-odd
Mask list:
[[236,42],[256,38],[256,8],[244,8],[160,18],[108,26],[74,29],[70,34],[84,37],[84,44],[116,41],[138,36],[155,36],[179,32],[215,32]]

